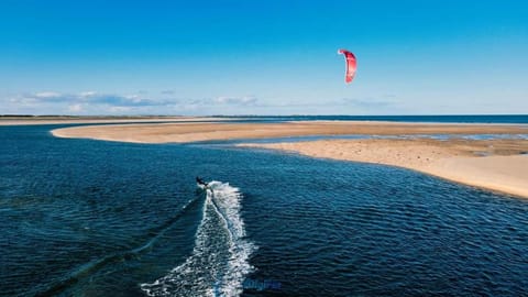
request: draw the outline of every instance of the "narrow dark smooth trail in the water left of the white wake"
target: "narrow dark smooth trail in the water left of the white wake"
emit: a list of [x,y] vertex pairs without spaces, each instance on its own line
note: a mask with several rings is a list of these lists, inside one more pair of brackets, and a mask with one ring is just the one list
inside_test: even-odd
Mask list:
[[128,260],[134,258],[135,256],[138,256],[143,252],[148,251],[150,249],[152,249],[154,243],[165,234],[167,230],[173,228],[173,226],[185,215],[186,210],[197,205],[199,200],[200,200],[199,197],[189,200],[184,207],[182,207],[182,209],[173,218],[167,220],[164,224],[162,224],[158,228],[151,229],[147,234],[148,237],[152,237],[152,238],[148,241],[146,241],[144,244],[141,244],[135,249],[127,250],[123,252],[117,252],[108,256],[81,264],[74,272],[65,276],[62,280],[58,280],[52,284],[45,290],[36,293],[35,296],[52,296],[52,295],[61,294],[65,289],[72,287],[79,280],[81,280],[84,277],[89,276],[91,273],[97,272],[98,270],[105,267],[109,263],[128,261]]

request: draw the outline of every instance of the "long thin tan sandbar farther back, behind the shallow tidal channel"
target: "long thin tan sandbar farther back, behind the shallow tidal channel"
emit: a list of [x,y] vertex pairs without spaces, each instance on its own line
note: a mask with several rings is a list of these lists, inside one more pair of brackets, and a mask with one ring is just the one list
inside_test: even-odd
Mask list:
[[145,123],[86,125],[53,130],[59,138],[136,143],[186,143],[210,140],[268,139],[307,135],[528,134],[528,125],[433,124],[363,121],[283,123]]

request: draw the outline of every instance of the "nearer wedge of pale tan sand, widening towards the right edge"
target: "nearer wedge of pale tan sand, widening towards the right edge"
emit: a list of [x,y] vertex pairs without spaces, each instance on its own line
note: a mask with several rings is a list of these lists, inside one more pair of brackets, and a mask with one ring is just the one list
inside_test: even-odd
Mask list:
[[[464,143],[465,142],[465,143]],[[459,184],[528,198],[528,141],[321,140],[304,143],[245,143],[310,157],[383,164]],[[495,152],[486,151],[493,146]],[[514,147],[513,147],[514,146]],[[488,148],[490,150],[490,148]],[[479,156],[475,153],[484,153]],[[520,154],[524,153],[524,154]]]

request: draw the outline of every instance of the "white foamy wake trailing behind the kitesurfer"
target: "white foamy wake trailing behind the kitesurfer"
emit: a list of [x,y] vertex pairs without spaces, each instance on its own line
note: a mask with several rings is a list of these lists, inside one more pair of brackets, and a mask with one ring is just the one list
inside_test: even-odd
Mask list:
[[141,284],[148,296],[239,296],[253,271],[256,249],[245,239],[242,195],[228,183],[207,184],[202,219],[186,261],[153,283]]

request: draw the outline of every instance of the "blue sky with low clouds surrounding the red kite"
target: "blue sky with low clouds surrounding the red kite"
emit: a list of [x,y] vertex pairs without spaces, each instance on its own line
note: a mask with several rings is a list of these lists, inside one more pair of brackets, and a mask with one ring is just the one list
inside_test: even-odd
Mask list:
[[[528,1],[0,1],[0,114],[527,114]],[[352,84],[344,58],[358,57]]]

